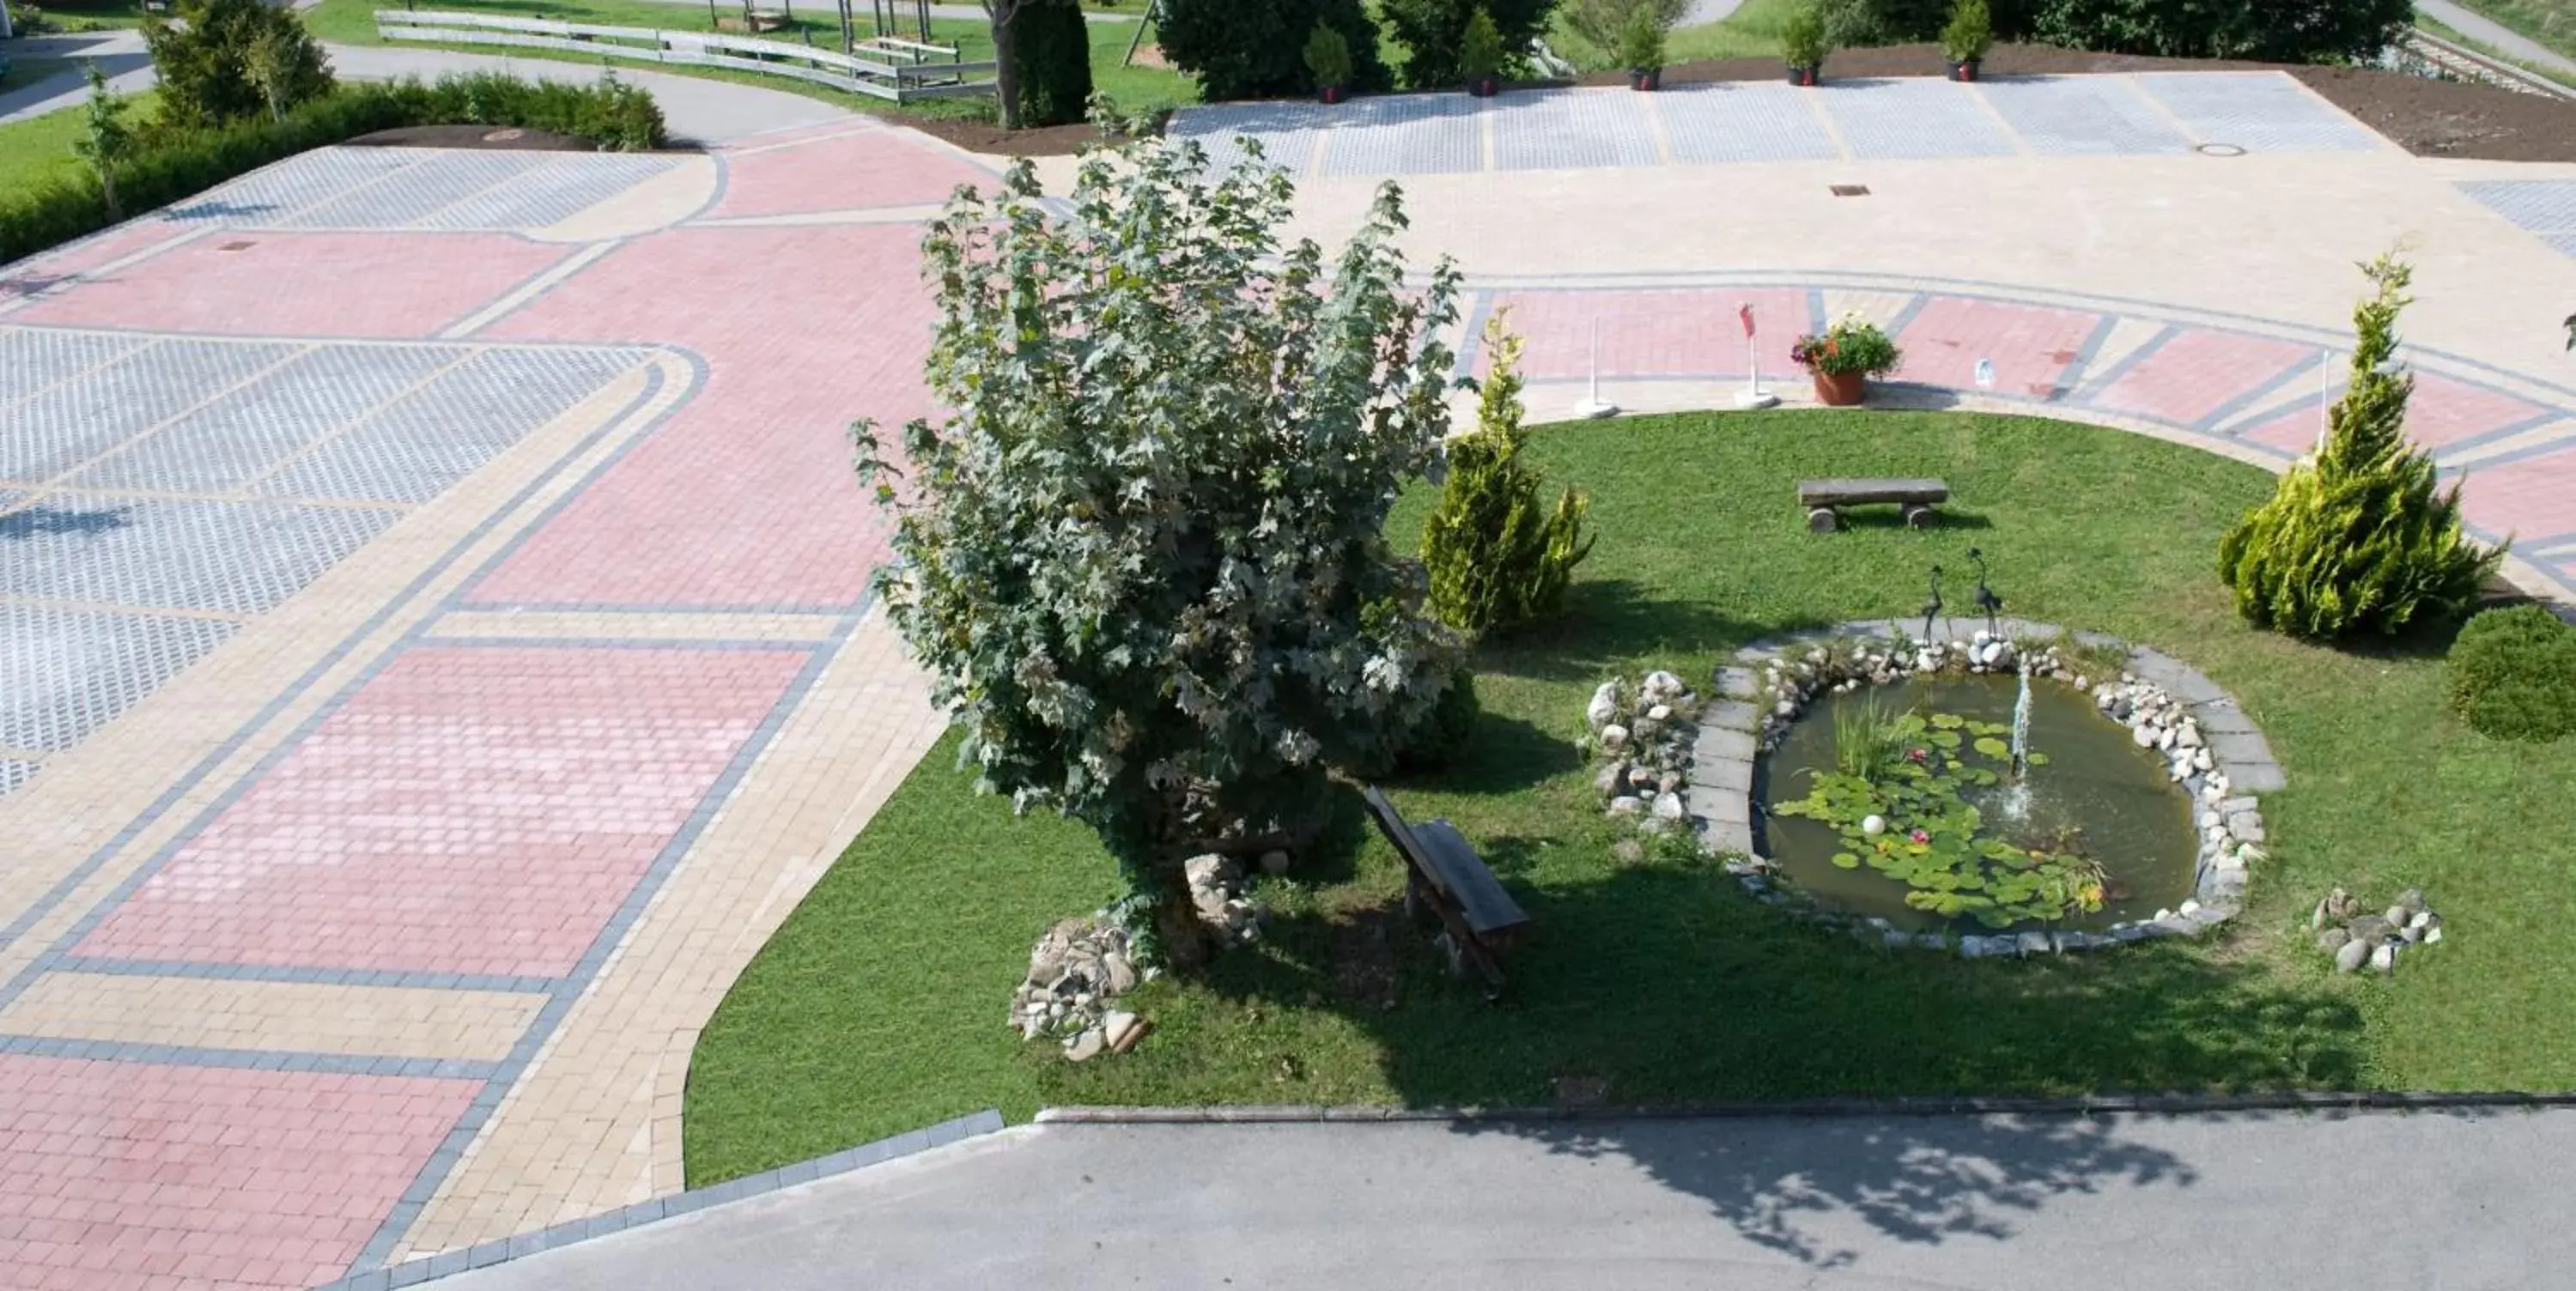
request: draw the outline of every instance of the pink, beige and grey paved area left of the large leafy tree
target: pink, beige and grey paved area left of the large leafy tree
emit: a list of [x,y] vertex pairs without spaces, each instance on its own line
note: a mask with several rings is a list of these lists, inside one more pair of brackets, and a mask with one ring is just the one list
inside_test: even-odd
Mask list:
[[842,428],[927,412],[979,178],[330,149],[0,273],[0,1286],[680,1185],[698,1026],[938,729]]

